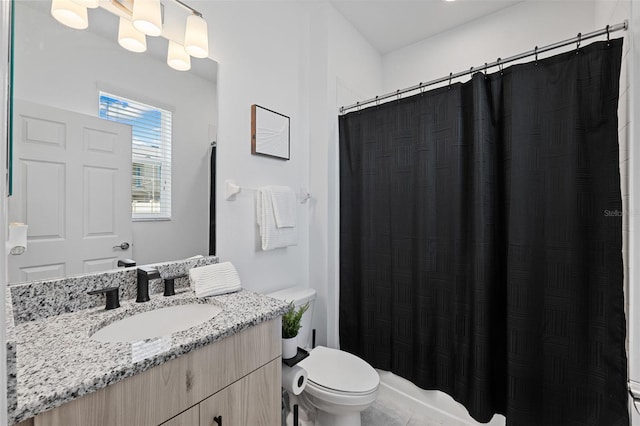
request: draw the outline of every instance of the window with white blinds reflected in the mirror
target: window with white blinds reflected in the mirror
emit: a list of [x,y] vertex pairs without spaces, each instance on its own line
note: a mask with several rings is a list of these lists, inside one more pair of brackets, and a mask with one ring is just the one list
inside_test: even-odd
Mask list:
[[132,218],[171,218],[171,111],[100,92],[100,118],[132,128]]

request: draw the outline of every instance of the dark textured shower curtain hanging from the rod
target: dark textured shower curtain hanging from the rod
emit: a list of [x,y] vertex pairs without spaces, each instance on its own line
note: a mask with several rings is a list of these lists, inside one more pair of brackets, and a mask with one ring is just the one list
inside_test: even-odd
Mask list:
[[343,350],[480,422],[628,425],[621,52],[340,117]]

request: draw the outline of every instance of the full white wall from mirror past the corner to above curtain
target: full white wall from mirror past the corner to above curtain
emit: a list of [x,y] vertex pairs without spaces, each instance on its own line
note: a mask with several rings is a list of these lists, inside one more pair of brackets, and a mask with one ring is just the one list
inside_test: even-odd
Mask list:
[[[381,88],[380,55],[328,3],[199,3],[219,68],[218,254],[234,262],[246,288],[303,285],[318,292],[319,344],[337,345],[338,106]],[[238,25],[242,22],[242,25]],[[350,89],[344,95],[344,87]],[[340,97],[340,99],[339,99]],[[250,106],[291,117],[291,160],[250,154]],[[263,252],[255,193],[226,201],[223,183],[306,188],[297,246]],[[327,316],[327,310],[330,314]]]

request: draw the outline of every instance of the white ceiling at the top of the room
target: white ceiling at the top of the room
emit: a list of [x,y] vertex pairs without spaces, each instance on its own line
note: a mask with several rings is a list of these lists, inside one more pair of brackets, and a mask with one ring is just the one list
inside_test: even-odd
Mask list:
[[331,4],[385,54],[523,0],[333,0]]

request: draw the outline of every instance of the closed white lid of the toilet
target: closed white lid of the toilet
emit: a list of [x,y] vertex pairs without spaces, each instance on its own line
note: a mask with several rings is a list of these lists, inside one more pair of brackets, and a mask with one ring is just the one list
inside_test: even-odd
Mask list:
[[366,361],[347,352],[318,346],[298,364],[309,381],[339,392],[371,392],[380,376]]

